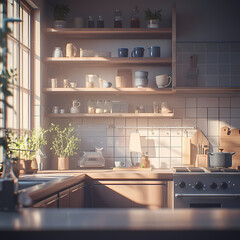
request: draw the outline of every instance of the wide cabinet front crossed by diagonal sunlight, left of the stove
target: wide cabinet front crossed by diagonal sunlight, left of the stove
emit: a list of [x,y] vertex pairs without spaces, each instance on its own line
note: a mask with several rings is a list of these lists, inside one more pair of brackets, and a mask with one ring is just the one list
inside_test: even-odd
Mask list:
[[111,182],[93,184],[92,206],[109,208],[167,207],[167,184],[163,182]]

